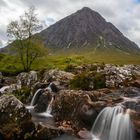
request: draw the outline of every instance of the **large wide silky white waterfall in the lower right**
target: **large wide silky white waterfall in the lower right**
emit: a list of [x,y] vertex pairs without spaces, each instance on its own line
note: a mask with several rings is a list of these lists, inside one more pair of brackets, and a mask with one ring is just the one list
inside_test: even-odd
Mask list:
[[124,113],[121,106],[103,109],[91,132],[93,140],[134,140],[129,113]]

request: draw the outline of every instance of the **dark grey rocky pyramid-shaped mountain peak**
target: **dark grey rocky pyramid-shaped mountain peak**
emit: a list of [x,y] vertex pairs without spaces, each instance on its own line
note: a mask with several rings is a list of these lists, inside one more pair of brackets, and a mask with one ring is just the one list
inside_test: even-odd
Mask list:
[[50,48],[98,48],[140,52],[139,47],[126,38],[99,13],[84,7],[39,33]]

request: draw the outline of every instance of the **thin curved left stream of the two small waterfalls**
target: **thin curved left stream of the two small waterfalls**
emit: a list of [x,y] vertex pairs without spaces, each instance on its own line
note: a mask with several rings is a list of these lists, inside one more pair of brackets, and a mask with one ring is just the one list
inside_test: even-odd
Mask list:
[[43,89],[38,89],[35,92],[35,94],[34,94],[34,96],[32,98],[30,106],[34,106],[36,104],[37,100],[39,99],[39,96],[43,93],[43,91],[44,91]]

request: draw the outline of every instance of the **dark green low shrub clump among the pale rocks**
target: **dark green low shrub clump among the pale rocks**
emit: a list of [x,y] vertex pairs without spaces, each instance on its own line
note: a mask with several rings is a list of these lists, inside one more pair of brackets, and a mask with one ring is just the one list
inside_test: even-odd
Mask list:
[[82,73],[76,75],[70,81],[70,88],[72,89],[82,89],[82,90],[93,90],[106,87],[105,75],[102,73],[92,72],[92,73]]

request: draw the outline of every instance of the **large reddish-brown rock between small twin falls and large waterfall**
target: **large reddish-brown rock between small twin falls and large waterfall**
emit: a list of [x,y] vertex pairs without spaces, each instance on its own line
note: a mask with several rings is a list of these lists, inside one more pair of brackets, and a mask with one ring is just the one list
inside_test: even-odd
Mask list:
[[91,127],[98,113],[106,106],[105,102],[93,102],[90,98],[91,94],[94,93],[74,90],[60,91],[53,103],[52,114],[55,120],[57,122],[72,121],[72,128],[76,131],[78,127]]

